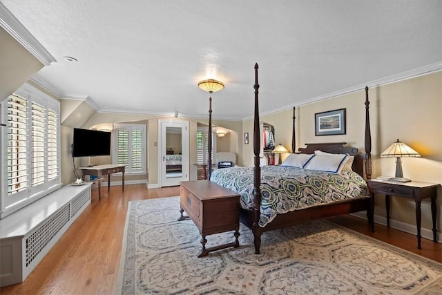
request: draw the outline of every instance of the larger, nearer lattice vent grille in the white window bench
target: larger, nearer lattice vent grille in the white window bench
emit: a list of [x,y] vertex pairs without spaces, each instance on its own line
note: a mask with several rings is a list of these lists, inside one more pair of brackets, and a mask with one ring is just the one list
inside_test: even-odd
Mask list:
[[68,204],[26,239],[26,267],[32,263],[32,260],[48,245],[60,229],[66,225],[69,218]]

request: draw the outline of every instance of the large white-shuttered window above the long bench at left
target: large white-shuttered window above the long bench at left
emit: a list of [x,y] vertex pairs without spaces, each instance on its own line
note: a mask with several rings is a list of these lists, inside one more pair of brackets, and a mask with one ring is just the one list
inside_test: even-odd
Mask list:
[[1,103],[1,216],[58,189],[59,102],[25,84]]

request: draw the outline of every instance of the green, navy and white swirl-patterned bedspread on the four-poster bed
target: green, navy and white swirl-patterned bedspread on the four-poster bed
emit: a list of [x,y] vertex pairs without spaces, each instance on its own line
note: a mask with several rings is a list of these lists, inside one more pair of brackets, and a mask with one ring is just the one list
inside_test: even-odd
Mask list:
[[[253,167],[216,169],[210,180],[239,193],[241,207],[252,209]],[[369,196],[367,183],[356,172],[336,174],[290,166],[262,166],[260,189],[260,227],[278,213]]]

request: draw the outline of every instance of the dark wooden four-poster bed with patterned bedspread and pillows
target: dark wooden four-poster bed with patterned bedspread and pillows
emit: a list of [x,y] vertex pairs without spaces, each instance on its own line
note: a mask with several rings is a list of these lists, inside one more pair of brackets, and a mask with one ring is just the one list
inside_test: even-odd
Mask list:
[[[307,147],[298,149],[299,154],[309,154],[306,160],[307,168],[311,159],[321,156],[341,157],[339,166],[345,165],[345,162],[352,158],[353,162],[349,162],[351,169],[339,173],[329,173],[324,171],[311,171],[302,169],[304,166],[296,169],[287,166],[260,166],[260,118],[258,108],[258,64],[255,65],[255,107],[253,119],[253,153],[254,166],[253,178],[251,177],[252,168],[230,168],[221,169],[221,171],[214,171],[211,173],[209,166],[209,178],[224,187],[227,187],[238,193],[242,193],[240,198],[240,221],[253,231],[254,245],[256,254],[260,253],[261,235],[265,231],[273,229],[280,229],[282,227],[289,227],[297,225],[309,220],[316,220],[320,218],[329,218],[341,214],[354,213],[358,211],[367,211],[367,219],[372,230],[374,202],[370,196],[367,185],[363,180],[364,164],[363,156],[358,154],[358,149],[343,146],[345,142],[340,143],[315,143],[307,144]],[[369,180],[372,175],[371,171],[371,136],[369,127],[369,100],[368,88],[365,87],[365,176]],[[211,109],[209,110],[209,130],[211,130]],[[292,134],[292,151],[296,151],[296,137],[295,137],[295,108],[293,116],[293,134]],[[209,142],[211,141],[211,133],[209,132]],[[319,155],[325,152],[327,155]],[[211,153],[211,146],[209,145],[209,155]],[[318,153],[318,155],[315,155]],[[330,153],[334,155],[330,155]],[[324,158],[323,158],[324,159]],[[238,170],[243,169],[243,170]],[[264,175],[261,174],[263,169]],[[340,168],[341,169],[341,168]],[[231,175],[227,174],[231,171]],[[300,175],[293,175],[293,171],[300,173]],[[306,172],[307,171],[307,172]],[[337,171],[337,170],[336,170]],[[248,176],[247,176],[247,173]],[[327,174],[328,173],[328,174]],[[287,175],[287,176],[286,176]],[[241,178],[244,176],[243,178]],[[248,177],[248,178],[247,178]],[[298,179],[301,178],[305,182],[312,182],[311,187],[306,187],[307,184],[298,184]],[[253,180],[253,186],[251,182]],[[238,184],[238,182],[241,182]],[[333,183],[332,183],[333,182]],[[273,187],[272,187],[273,186]],[[286,186],[286,187],[284,187]],[[345,187],[342,189],[341,187]],[[292,189],[287,189],[287,187]],[[293,188],[297,189],[293,189]],[[299,189],[304,187],[304,189]],[[315,191],[320,187],[329,187],[329,191],[315,194]],[[241,191],[242,189],[242,191]],[[264,190],[264,196],[262,194]],[[273,191],[276,190],[276,191]],[[304,195],[299,191],[304,191]],[[281,193],[281,191],[283,191]],[[286,191],[292,193],[297,191],[297,196],[286,196]],[[253,196],[252,196],[253,194]],[[301,201],[302,199],[302,201]],[[318,204],[313,204],[317,202]],[[306,202],[306,204],[301,204]]]

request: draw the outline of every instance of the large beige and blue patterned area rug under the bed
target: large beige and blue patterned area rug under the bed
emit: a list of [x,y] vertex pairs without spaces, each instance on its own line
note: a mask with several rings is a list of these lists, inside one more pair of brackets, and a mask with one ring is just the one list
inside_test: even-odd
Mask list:
[[441,264],[327,220],[263,234],[260,255],[241,225],[239,248],[197,258],[199,231],[179,208],[177,197],[130,202],[116,294],[442,294]]

